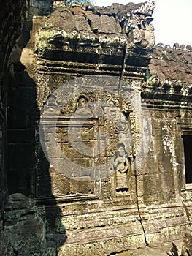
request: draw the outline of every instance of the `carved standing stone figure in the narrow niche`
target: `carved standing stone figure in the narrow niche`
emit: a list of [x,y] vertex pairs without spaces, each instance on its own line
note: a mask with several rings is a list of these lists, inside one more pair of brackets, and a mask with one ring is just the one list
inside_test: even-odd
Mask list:
[[114,169],[116,170],[116,192],[128,192],[127,173],[131,169],[131,159],[123,143],[119,144],[115,154]]

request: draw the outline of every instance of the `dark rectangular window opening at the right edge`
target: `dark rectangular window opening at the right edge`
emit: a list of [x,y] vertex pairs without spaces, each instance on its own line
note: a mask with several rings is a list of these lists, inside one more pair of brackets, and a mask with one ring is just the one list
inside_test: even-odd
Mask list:
[[192,183],[192,135],[183,135],[185,153],[185,181]]

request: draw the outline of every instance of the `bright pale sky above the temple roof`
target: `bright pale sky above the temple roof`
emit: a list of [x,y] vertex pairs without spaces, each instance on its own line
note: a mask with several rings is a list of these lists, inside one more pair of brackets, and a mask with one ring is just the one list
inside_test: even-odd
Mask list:
[[[96,5],[107,6],[112,3],[135,4],[147,0],[96,0]],[[159,42],[171,47],[175,42],[192,45],[192,0],[153,0],[153,26],[155,44]]]

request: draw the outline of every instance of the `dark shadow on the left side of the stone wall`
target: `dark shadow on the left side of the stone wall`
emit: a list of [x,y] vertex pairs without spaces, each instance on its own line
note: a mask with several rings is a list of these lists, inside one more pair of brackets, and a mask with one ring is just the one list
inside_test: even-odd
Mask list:
[[[49,163],[39,142],[40,112],[37,86],[20,62],[20,53],[28,42],[29,31],[23,32],[9,58],[4,75],[7,105],[7,141],[5,171],[7,203],[3,229],[0,232],[0,255],[58,254],[66,241],[61,225],[61,210],[51,192]],[[46,177],[41,195],[51,202],[38,203],[36,173]]]

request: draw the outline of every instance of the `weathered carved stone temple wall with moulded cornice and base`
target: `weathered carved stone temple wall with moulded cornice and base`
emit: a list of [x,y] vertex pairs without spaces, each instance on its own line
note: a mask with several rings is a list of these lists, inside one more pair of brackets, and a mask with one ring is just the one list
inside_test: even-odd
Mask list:
[[183,238],[192,51],[155,45],[153,10],[29,2],[3,83],[2,255],[110,255]]

